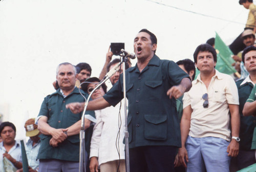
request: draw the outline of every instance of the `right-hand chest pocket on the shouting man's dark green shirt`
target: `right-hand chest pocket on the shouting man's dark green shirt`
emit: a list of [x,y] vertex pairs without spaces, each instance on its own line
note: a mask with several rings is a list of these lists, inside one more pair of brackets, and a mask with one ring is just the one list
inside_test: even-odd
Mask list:
[[145,100],[146,101],[158,101],[161,98],[163,89],[162,81],[146,81],[145,82]]

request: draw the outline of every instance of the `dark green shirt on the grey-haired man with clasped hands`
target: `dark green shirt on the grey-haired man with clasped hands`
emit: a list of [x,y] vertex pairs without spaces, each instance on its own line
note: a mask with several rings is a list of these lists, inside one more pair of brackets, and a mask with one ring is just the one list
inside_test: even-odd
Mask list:
[[[83,91],[81,91],[85,94]],[[88,97],[88,95],[86,95]],[[55,93],[45,97],[38,116],[48,117],[47,123],[54,128],[67,128],[81,119],[82,112],[73,114],[66,109],[66,104],[72,102],[84,102],[79,90],[75,88],[67,97],[63,97],[58,89]],[[94,111],[86,111],[86,114],[95,118]],[[40,135],[41,146],[37,159],[58,159],[66,161],[79,161],[79,134],[69,136],[66,140],[58,143],[57,147],[50,145],[50,135]]]

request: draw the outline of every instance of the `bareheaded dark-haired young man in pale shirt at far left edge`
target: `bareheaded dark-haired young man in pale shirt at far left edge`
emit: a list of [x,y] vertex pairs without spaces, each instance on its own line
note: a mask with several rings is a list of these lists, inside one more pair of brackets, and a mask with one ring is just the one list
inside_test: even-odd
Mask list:
[[0,125],[0,134],[3,142],[0,143],[0,164],[6,157],[17,169],[22,168],[22,150],[15,140],[16,127],[11,122]]

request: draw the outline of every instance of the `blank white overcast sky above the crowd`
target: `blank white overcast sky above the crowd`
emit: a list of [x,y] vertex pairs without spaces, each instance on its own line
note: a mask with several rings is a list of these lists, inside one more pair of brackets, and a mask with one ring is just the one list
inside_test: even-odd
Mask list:
[[215,32],[230,44],[247,16],[233,0],[2,0],[0,113],[20,129],[17,138],[24,138],[24,122],[54,92],[59,63],[88,62],[98,77],[110,43],[124,42],[133,52],[143,28],[157,36],[161,59],[193,59],[196,47]]

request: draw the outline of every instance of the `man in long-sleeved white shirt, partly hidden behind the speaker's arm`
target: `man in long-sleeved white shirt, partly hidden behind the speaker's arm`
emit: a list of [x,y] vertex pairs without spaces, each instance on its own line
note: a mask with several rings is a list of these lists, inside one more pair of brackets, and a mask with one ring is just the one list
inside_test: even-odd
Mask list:
[[[112,60],[107,67],[107,71],[109,72],[119,62],[119,59]],[[125,69],[127,68],[129,68],[129,66],[125,64]],[[114,85],[118,81],[119,75],[122,72],[123,68],[121,67],[120,71],[117,71],[113,76],[110,77],[112,85]],[[94,126],[93,136],[91,140],[91,172],[98,171],[98,165],[100,165],[101,172],[116,171],[118,166],[118,171],[125,172],[124,144],[122,143],[125,131],[124,110],[123,106],[121,106],[120,109],[120,104],[121,103],[118,103],[115,107],[111,106],[106,107],[103,110],[95,111],[97,122]],[[119,109],[120,116],[118,115]],[[118,133],[120,134],[119,137]],[[116,147],[118,147],[119,150],[117,150]],[[119,154],[117,151],[119,151]]]

